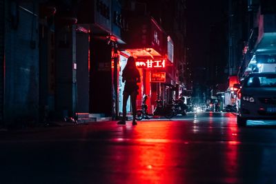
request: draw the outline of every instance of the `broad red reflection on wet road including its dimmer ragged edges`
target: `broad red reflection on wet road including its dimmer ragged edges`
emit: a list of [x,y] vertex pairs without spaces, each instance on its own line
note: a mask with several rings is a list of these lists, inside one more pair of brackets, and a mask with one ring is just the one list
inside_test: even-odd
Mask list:
[[176,174],[175,167],[179,165],[177,156],[181,155],[181,158],[184,158],[181,159],[181,162],[184,162],[186,158],[186,153],[179,154],[177,147],[179,144],[188,145],[188,141],[174,139],[174,133],[179,130],[176,126],[166,125],[166,123],[168,121],[150,123],[150,125],[155,126],[154,132],[152,132],[150,125],[130,126],[132,128],[131,137],[128,134],[126,138],[116,140],[118,142],[125,141],[132,145],[131,149],[116,153],[117,159],[124,162],[124,167],[117,168],[117,170],[128,171],[125,176],[126,181],[135,181],[134,183],[179,183],[175,180],[179,178],[184,180],[183,173],[177,173],[177,175],[179,174],[177,177],[174,175]]

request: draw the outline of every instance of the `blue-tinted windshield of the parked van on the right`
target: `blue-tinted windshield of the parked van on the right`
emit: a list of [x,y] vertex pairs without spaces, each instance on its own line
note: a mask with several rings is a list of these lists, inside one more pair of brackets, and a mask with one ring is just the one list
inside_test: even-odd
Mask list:
[[245,83],[248,88],[276,87],[276,74],[250,76]]

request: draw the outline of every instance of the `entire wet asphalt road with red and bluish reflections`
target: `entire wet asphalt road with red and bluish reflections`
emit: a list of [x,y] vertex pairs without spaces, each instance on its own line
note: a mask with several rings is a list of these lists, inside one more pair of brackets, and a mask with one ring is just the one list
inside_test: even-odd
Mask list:
[[0,132],[0,183],[276,183],[276,123],[229,113]]

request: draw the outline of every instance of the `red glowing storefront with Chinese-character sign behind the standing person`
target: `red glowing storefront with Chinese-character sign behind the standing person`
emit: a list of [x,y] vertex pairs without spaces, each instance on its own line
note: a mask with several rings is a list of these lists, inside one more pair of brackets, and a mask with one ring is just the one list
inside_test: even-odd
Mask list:
[[139,108],[143,94],[148,94],[148,112],[152,112],[155,101],[166,101],[170,95],[168,89],[176,83],[170,74],[173,65],[173,43],[150,17],[133,17],[129,23],[129,30],[122,34],[126,45],[123,46],[121,54],[124,57],[135,57],[141,74],[137,105]]

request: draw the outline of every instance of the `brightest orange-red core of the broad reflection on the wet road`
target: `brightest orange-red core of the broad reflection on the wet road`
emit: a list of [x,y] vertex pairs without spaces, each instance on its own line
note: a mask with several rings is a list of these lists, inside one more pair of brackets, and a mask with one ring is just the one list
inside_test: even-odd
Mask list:
[[[135,128],[135,134],[139,137],[137,141],[150,143],[150,146],[136,150],[137,162],[140,166],[139,179],[146,181],[146,183],[160,183],[168,178],[171,180],[172,178],[166,168],[168,169],[176,164],[172,160],[172,152],[175,152],[175,150],[173,150],[171,144],[168,144],[170,140],[164,139],[172,136],[172,127],[161,125],[166,122],[159,121],[158,123],[158,130],[155,130],[155,132],[151,132],[150,127]],[[149,138],[149,134],[151,134],[150,139],[145,139]]]

